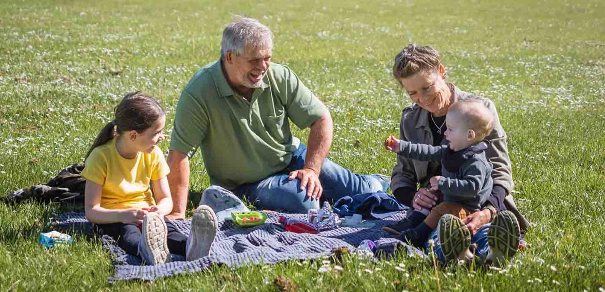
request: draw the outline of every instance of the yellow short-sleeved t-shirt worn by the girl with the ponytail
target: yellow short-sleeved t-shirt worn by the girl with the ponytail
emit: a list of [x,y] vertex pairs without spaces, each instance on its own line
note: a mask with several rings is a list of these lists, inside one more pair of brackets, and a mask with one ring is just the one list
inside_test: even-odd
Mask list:
[[85,162],[82,176],[103,186],[101,208],[128,209],[155,205],[151,180],[159,180],[170,168],[159,147],[151,154],[139,152],[137,157],[120,156],[116,138],[94,148]]

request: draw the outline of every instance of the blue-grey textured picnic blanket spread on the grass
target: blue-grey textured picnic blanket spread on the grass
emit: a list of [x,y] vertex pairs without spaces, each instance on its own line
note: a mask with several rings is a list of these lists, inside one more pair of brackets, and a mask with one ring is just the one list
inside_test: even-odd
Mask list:
[[[407,246],[393,238],[382,238],[384,233],[381,227],[392,224],[405,217],[405,211],[397,212],[389,218],[373,221],[371,228],[339,227],[317,234],[286,232],[278,224],[278,217],[296,217],[307,220],[306,214],[283,214],[267,212],[265,224],[250,228],[237,226],[232,221],[218,223],[217,236],[210,251],[210,255],[196,261],[187,262],[183,256],[172,255],[172,262],[163,265],[141,265],[141,259],[128,255],[116,246],[109,236],[102,236],[102,246],[114,260],[116,271],[110,282],[142,279],[154,280],[157,278],[201,271],[214,264],[224,264],[229,267],[239,267],[250,264],[275,264],[276,262],[292,259],[314,259],[328,256],[336,247],[346,247],[353,252],[362,240],[373,240],[378,247],[378,255],[393,255],[397,247],[402,248],[408,255],[424,256],[420,250]],[[191,221],[173,221],[177,229],[189,235]],[[60,214],[54,221],[57,229],[91,230],[90,223],[83,213]]]

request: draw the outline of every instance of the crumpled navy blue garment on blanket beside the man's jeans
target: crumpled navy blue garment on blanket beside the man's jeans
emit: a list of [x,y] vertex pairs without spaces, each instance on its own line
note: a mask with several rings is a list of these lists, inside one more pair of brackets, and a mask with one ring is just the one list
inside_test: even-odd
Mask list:
[[365,194],[348,195],[334,203],[334,212],[340,216],[361,214],[364,219],[384,219],[397,211],[405,211],[407,206],[401,205],[395,197],[386,192],[367,192]]

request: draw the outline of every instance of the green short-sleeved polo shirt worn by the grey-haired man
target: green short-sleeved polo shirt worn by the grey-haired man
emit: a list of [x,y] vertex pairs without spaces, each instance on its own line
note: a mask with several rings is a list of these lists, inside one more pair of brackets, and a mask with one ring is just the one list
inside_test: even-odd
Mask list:
[[283,171],[300,141],[292,121],[309,127],[327,112],[287,66],[273,64],[247,101],[229,86],[220,61],[201,68],[178,100],[170,150],[201,148],[212,185],[227,189]]

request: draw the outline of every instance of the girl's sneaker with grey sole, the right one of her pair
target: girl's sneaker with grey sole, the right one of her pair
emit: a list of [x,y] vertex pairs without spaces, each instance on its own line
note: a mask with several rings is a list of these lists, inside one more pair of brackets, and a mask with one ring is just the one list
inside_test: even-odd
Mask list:
[[187,261],[208,256],[217,235],[217,217],[212,208],[200,205],[191,217],[191,233],[187,238]]

